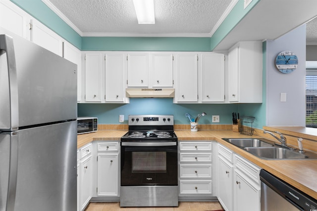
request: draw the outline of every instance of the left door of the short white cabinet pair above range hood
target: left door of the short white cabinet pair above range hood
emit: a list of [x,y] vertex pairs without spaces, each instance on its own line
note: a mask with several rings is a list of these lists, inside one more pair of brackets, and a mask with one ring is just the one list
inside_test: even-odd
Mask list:
[[149,56],[147,53],[128,54],[128,87],[149,86]]

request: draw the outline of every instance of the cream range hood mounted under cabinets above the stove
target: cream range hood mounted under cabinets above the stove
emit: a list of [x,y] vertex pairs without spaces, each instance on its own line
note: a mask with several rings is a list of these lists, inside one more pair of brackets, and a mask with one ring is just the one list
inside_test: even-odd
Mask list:
[[127,88],[126,97],[174,97],[174,88]]

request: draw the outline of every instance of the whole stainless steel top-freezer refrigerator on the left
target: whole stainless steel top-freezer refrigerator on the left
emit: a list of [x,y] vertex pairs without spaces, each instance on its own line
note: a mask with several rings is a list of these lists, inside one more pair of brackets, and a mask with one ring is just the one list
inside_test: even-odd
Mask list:
[[0,28],[0,211],[76,211],[77,65]]

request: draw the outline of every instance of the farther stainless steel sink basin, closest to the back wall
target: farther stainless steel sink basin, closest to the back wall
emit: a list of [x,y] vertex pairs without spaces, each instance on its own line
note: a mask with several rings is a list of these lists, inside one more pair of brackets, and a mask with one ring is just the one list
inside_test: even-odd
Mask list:
[[222,138],[222,139],[240,148],[274,146],[274,143],[265,139],[261,139],[261,138],[260,139],[258,138]]

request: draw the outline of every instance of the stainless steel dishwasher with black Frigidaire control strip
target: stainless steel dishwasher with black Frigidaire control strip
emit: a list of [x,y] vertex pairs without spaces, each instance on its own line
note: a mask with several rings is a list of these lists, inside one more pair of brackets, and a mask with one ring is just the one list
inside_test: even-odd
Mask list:
[[260,171],[261,211],[317,211],[317,200],[272,175]]

